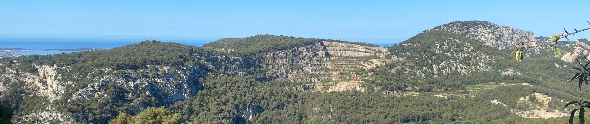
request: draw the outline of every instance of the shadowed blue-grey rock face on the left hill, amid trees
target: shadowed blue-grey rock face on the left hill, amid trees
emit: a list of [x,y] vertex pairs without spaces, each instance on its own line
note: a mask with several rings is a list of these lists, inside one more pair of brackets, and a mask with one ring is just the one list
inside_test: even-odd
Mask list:
[[[157,77],[145,78],[138,73],[162,73]],[[106,75],[74,93],[71,99],[89,99],[106,96],[107,85],[116,84],[127,93],[124,96],[140,96],[142,93],[158,99],[162,103],[171,103],[191,98],[201,86],[197,78],[205,76],[197,66],[156,66],[154,69],[126,71],[126,76]],[[110,83],[115,82],[115,83]],[[133,98],[127,97],[127,98]],[[140,98],[135,98],[140,99]],[[135,100],[130,99],[130,100]]]

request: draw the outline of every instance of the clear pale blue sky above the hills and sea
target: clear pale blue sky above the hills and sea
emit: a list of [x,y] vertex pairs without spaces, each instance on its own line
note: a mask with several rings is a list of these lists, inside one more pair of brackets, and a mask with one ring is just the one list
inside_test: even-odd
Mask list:
[[0,38],[214,40],[268,33],[401,42],[451,21],[488,21],[537,36],[590,27],[590,1],[559,2],[0,1]]

